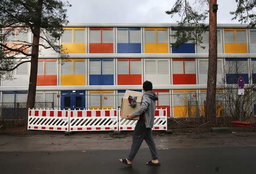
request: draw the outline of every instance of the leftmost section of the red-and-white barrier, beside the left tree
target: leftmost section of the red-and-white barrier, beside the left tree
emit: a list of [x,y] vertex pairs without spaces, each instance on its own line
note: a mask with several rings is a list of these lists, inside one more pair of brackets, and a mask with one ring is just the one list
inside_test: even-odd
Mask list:
[[28,130],[68,131],[68,110],[28,110]]

